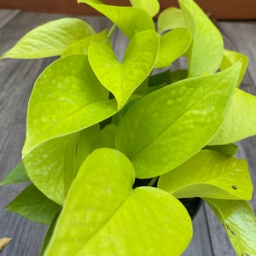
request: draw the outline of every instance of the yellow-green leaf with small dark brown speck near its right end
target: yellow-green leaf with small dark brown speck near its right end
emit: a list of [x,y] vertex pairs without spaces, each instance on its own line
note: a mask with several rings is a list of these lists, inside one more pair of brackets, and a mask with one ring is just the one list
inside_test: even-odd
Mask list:
[[177,198],[250,200],[253,194],[247,161],[212,150],[202,150],[162,175],[158,187]]

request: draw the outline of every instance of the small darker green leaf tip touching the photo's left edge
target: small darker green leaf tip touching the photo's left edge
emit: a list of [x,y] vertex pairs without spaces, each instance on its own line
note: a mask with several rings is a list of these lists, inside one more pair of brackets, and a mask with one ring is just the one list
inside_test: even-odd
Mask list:
[[2,182],[0,183],[0,186],[6,185],[6,184],[14,184],[14,183],[26,183],[29,182],[30,179],[27,177],[26,169],[23,165],[23,162],[20,161],[20,163],[15,166],[15,168],[9,172],[9,174],[3,178]]

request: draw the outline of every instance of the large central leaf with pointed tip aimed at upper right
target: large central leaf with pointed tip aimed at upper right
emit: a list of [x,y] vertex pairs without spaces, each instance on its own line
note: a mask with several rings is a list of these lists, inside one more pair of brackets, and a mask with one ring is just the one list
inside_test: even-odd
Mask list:
[[185,79],[134,104],[118,126],[117,149],[140,178],[181,165],[218,131],[230,107],[240,63],[221,73]]

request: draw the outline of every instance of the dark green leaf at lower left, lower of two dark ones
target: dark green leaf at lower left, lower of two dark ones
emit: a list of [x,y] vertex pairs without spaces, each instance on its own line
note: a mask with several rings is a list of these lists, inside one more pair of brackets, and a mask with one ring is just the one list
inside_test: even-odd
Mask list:
[[20,195],[5,207],[5,210],[9,212],[15,212],[40,224],[50,224],[60,209],[59,205],[50,201],[33,184],[21,191]]

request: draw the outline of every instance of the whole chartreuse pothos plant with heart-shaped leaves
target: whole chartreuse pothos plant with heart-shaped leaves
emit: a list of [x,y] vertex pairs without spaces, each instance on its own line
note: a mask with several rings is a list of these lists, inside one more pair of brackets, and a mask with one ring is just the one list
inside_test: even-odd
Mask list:
[[[31,184],[6,209],[49,224],[45,256],[179,255],[192,223],[178,199],[200,197],[236,253],[255,255],[253,186],[233,144],[256,134],[256,97],[239,89],[247,56],[224,49],[192,0],[156,24],[156,0],[79,2],[113,27],[50,21],[2,55],[60,55],[35,82],[22,161],[1,183]],[[122,61],[115,29],[129,40]],[[180,57],[188,69],[173,71]]]

